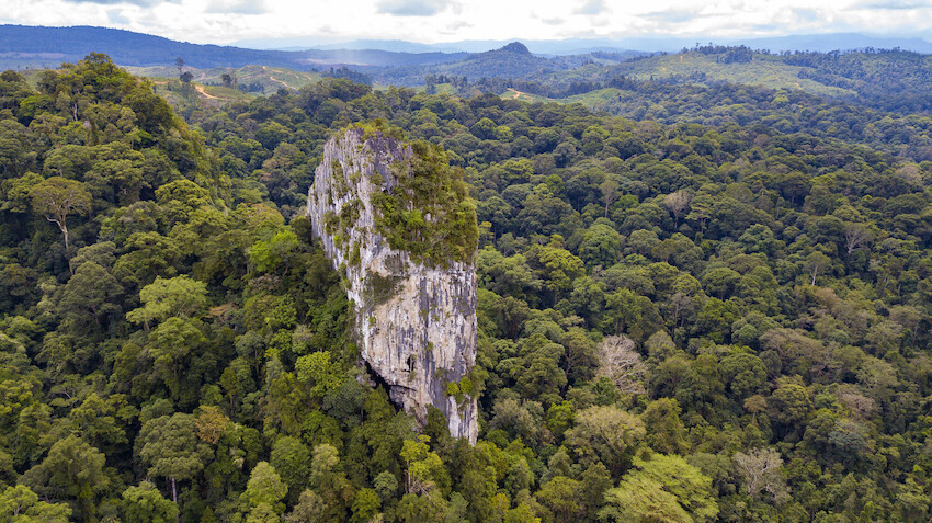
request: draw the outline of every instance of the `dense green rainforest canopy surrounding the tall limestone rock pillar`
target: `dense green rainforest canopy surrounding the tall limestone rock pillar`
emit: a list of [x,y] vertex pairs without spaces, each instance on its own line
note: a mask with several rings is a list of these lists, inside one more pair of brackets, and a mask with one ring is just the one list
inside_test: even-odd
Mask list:
[[[183,122],[103,55],[0,75],[0,522],[928,521],[925,127],[780,95],[695,123],[331,78]],[[357,365],[303,217],[373,120],[476,201],[475,446]]]

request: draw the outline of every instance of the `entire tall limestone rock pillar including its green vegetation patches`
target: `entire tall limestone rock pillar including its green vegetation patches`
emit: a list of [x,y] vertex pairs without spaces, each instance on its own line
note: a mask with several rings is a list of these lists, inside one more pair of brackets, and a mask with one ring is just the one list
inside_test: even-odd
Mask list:
[[307,214],[393,401],[421,422],[436,407],[475,443],[478,229],[462,175],[436,146],[351,127],[325,145]]

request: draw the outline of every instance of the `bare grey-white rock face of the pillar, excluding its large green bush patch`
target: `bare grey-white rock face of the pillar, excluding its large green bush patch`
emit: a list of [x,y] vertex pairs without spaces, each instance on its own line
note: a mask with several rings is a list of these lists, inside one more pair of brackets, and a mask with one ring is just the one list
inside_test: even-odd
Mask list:
[[463,378],[476,361],[474,257],[434,266],[376,232],[382,216],[373,196],[395,189],[398,169],[411,172],[412,155],[380,132],[339,134],[325,145],[307,214],[333,266],[345,270],[362,357],[393,401],[421,422],[433,405],[453,436],[475,443],[476,399],[459,391],[471,384]]

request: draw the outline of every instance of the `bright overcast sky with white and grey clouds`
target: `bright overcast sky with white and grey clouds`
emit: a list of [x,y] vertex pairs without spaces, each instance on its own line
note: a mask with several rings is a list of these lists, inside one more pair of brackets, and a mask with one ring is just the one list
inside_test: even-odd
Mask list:
[[2,0],[0,22],[100,25],[197,44],[317,37],[550,39],[777,36],[861,32],[924,36],[932,0]]

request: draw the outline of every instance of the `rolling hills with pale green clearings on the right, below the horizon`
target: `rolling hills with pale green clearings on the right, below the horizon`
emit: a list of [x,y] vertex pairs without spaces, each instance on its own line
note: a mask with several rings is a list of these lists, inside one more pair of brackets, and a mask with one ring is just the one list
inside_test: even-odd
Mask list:
[[[679,53],[590,53],[541,58],[520,43],[448,64],[367,69],[380,83],[437,84],[461,95],[505,89],[564,100],[599,90],[657,86],[748,87],[803,91],[877,111],[929,114],[929,55],[894,49],[772,54],[747,46],[696,45]],[[675,91],[675,89],[674,89]],[[586,99],[583,99],[584,101]]]

